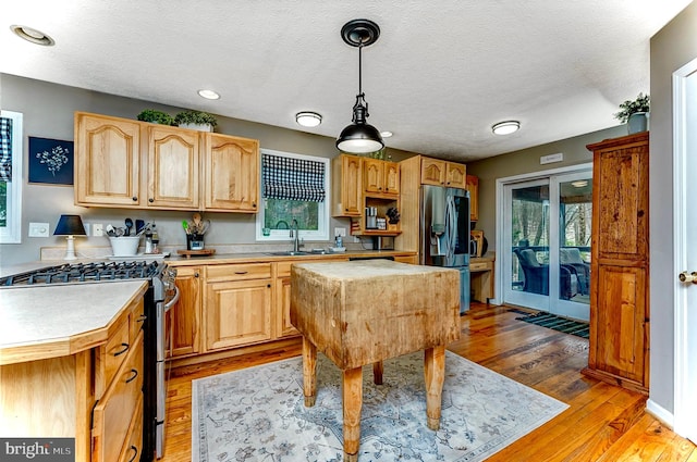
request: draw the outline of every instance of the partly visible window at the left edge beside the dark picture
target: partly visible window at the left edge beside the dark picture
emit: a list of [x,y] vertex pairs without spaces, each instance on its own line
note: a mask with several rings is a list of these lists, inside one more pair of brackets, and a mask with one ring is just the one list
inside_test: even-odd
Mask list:
[[0,244],[22,241],[22,114],[0,111]]

